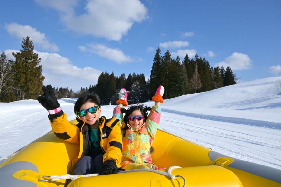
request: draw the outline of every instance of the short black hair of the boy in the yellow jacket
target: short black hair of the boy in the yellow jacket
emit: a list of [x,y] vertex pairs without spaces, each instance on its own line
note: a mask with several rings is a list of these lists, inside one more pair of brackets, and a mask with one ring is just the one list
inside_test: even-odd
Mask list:
[[74,113],[79,112],[81,106],[87,102],[96,103],[101,108],[100,98],[96,93],[84,93],[75,102]]

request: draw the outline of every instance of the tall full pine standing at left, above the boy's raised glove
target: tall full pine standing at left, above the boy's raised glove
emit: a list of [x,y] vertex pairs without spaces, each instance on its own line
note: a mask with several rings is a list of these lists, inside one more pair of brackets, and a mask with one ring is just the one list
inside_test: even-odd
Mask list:
[[32,40],[27,36],[22,41],[20,52],[12,53],[15,61],[12,70],[16,72],[14,85],[17,88],[21,100],[36,99],[41,93],[43,86],[42,66],[39,65],[41,58],[35,53]]

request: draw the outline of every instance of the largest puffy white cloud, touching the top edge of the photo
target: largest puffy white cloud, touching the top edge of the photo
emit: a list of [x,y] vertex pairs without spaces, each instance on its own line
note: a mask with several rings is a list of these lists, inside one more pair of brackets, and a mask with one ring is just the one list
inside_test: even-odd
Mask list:
[[86,13],[78,16],[73,11],[73,7],[77,4],[74,0],[66,5],[55,0],[44,3],[43,0],[37,0],[37,2],[60,11],[61,21],[67,28],[108,40],[119,41],[131,29],[134,22],[141,22],[148,17],[147,8],[139,0],[88,0],[84,8]]

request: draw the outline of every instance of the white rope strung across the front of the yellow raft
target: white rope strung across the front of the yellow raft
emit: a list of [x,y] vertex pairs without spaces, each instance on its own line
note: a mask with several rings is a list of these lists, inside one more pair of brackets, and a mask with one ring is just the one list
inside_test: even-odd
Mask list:
[[[130,173],[130,172],[138,172],[138,171],[150,171],[150,172],[154,172],[154,173],[158,173],[160,175],[165,175],[167,177],[169,177],[170,179],[175,180],[176,177],[181,177],[184,180],[184,185],[183,187],[185,187],[185,178],[180,176],[180,175],[173,175],[171,172],[173,169],[175,168],[181,168],[180,166],[172,166],[168,169],[167,172],[164,171],[159,171],[159,170],[152,170],[152,169],[135,169],[135,170],[128,170],[128,171],[120,171],[118,173]],[[82,177],[92,177],[92,176],[98,176],[100,174],[98,173],[93,173],[93,174],[88,174],[88,175],[70,175],[70,174],[66,174],[66,175],[51,175],[51,176],[46,176],[43,175],[43,178],[49,178],[46,180],[40,180],[38,179],[38,181],[40,182],[45,182],[45,181],[56,181],[56,180],[61,180],[61,179],[71,179],[71,180],[75,180],[78,178],[82,178]]]

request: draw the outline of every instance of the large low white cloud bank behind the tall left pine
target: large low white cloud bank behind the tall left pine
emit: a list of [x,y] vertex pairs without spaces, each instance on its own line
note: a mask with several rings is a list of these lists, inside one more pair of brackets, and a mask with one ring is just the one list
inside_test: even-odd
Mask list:
[[[5,50],[5,54],[19,52],[17,50]],[[57,53],[38,52],[41,58],[39,65],[42,65],[42,74],[45,76],[44,85],[52,84],[55,87],[68,87],[73,91],[80,90],[81,86],[86,87],[97,83],[101,74],[100,70],[91,67],[80,68],[71,63],[71,61]]]

